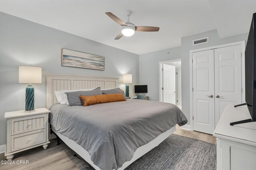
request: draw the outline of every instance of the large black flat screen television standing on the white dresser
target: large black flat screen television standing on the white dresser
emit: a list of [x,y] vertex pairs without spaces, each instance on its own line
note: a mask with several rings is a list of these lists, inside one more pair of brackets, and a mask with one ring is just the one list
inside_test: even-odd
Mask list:
[[230,125],[256,121],[256,13],[252,15],[252,24],[245,49],[245,102],[241,105],[247,105],[252,119],[232,122]]

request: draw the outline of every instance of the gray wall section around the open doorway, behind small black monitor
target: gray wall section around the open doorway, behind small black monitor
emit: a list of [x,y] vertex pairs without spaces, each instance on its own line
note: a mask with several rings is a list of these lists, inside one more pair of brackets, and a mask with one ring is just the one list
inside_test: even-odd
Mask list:
[[158,62],[171,59],[180,59],[180,47],[140,55],[140,85],[148,85],[149,100],[159,101]]

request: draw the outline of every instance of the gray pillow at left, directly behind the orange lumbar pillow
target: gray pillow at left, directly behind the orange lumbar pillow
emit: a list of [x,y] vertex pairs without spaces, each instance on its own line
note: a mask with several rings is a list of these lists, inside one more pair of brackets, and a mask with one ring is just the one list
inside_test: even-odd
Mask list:
[[72,91],[65,93],[68,96],[68,103],[71,106],[74,105],[84,105],[80,95],[82,96],[95,96],[95,95],[102,95],[100,87],[90,91]]

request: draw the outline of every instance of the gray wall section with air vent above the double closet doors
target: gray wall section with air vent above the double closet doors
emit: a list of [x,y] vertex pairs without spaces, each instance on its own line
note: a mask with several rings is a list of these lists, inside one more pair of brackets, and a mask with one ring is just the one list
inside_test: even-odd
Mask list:
[[[192,40],[204,38],[209,36],[209,43],[201,45],[192,45]],[[240,34],[237,36],[219,38],[218,31],[212,30],[200,34],[181,38],[181,80],[182,80],[182,112],[188,119],[190,125],[190,65],[189,65],[189,51],[192,49],[200,49],[204,47],[211,47],[214,45],[221,45],[225,43],[238,42],[247,40],[248,34]]]

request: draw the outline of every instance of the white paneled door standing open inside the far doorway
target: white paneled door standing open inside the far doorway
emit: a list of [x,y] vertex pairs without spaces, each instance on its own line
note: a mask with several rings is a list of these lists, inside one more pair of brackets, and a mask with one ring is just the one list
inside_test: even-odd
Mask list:
[[175,105],[175,66],[163,64],[163,101]]

